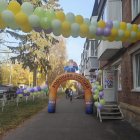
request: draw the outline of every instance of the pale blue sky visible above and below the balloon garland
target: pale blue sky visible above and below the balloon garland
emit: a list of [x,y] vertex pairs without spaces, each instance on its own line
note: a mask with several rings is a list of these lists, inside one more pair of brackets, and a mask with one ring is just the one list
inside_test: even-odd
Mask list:
[[[64,13],[72,12],[74,15],[82,15],[84,18],[90,18],[94,6],[94,0],[59,0]],[[73,59],[80,64],[81,53],[85,38],[68,38],[66,39],[68,59]]]

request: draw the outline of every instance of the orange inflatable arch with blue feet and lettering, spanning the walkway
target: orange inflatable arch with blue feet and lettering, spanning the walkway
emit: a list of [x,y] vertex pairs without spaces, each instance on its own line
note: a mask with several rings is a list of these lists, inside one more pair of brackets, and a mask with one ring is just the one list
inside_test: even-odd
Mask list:
[[82,75],[77,73],[65,73],[58,76],[52,83],[50,87],[49,93],[49,103],[48,103],[48,112],[54,113],[55,106],[56,106],[56,96],[57,96],[57,89],[60,84],[67,80],[76,80],[83,86],[85,90],[85,109],[87,114],[93,113],[93,96],[92,96],[92,87],[89,81]]

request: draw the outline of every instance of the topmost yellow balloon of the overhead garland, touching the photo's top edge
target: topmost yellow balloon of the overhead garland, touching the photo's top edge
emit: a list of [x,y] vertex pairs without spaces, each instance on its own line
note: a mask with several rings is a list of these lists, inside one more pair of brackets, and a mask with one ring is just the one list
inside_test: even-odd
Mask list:
[[17,1],[10,1],[8,5],[8,10],[11,10],[14,14],[17,14],[21,9],[20,4]]

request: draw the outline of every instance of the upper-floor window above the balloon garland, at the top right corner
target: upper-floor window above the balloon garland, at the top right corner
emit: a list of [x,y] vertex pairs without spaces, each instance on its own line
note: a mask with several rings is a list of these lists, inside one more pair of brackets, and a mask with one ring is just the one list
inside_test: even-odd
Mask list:
[[140,13],[140,0],[131,0],[132,5],[132,19]]

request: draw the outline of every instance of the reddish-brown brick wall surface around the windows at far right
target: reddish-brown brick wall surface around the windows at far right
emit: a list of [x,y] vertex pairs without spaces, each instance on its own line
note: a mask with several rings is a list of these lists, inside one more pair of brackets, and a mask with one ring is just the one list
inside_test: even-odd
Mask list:
[[[122,7],[123,21],[140,24],[139,15],[133,21],[131,20],[131,0],[122,0]],[[140,49],[137,47],[138,44],[140,44],[140,41],[133,44],[123,43],[126,51],[121,56],[122,91],[118,92],[118,97],[125,119],[140,130],[140,92],[133,91],[133,63],[131,53]]]

